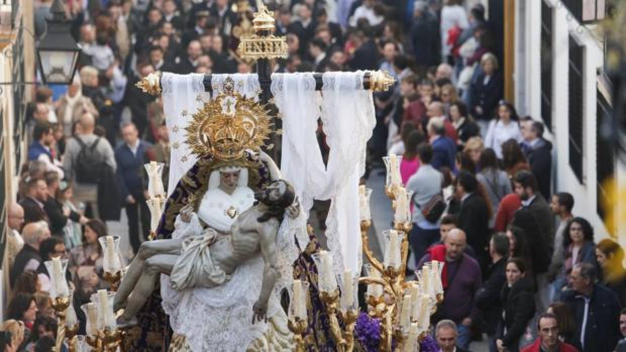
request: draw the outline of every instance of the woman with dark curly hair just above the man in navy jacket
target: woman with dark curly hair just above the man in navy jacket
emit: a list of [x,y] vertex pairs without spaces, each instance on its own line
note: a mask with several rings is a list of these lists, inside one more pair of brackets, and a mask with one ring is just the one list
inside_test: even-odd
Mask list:
[[[595,260],[593,227],[589,221],[580,218],[580,216],[570,220],[563,230],[563,249],[565,250],[565,264],[563,265],[563,276],[555,281],[555,284],[559,283],[557,289],[565,289],[566,283],[569,283],[568,277],[576,264],[598,265]],[[570,285],[568,284],[568,286]]]

